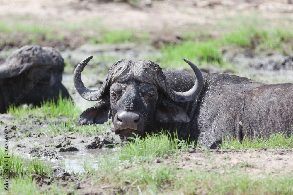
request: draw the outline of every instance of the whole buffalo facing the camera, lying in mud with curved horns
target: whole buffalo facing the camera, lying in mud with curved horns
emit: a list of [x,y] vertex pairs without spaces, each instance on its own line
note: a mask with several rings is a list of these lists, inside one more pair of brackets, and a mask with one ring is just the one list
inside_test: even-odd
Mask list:
[[216,147],[229,135],[268,136],[292,132],[293,84],[264,84],[248,78],[162,71],[150,60],[119,60],[100,90],[90,90],[81,72],[92,56],[79,63],[74,85],[88,101],[99,101],[80,115],[77,125],[103,124],[112,117],[114,132],[123,140],[133,133],[177,131],[179,138]]

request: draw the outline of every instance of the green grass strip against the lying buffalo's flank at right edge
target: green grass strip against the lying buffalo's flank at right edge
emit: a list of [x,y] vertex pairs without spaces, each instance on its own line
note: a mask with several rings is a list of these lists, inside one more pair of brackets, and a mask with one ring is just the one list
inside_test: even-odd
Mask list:
[[285,133],[276,133],[265,137],[244,138],[242,141],[235,137],[224,139],[219,146],[220,149],[241,150],[246,148],[293,148],[293,136],[286,136]]

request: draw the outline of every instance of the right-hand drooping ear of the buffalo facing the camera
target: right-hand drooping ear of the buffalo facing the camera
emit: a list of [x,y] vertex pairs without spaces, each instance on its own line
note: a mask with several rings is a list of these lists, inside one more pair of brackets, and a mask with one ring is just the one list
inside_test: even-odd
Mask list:
[[189,122],[189,118],[182,108],[166,101],[159,104],[155,119],[160,122]]

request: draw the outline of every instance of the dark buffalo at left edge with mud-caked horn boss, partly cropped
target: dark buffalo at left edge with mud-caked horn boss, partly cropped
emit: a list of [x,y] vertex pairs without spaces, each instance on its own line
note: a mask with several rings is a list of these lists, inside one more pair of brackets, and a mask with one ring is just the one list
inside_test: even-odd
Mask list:
[[52,47],[23,46],[0,65],[0,113],[23,103],[69,98],[62,85],[64,61]]

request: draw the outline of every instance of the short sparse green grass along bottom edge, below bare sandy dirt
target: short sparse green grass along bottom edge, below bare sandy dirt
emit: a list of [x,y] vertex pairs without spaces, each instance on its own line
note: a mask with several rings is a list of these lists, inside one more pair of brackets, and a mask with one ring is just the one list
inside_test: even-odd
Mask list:
[[[129,169],[129,168],[128,168]],[[131,168],[130,168],[131,169]],[[253,177],[232,168],[235,173],[219,174],[217,171],[200,169],[178,170],[177,165],[140,166],[117,174],[117,182],[122,186],[136,187],[144,194],[292,194],[292,175],[285,177]],[[103,179],[109,175],[105,176]],[[115,185],[115,184],[112,184]],[[138,188],[139,187],[139,188]]]

